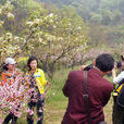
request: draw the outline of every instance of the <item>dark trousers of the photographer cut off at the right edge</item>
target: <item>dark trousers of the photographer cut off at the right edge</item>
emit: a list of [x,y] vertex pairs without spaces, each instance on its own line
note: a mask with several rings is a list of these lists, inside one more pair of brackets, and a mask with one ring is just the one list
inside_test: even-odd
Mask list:
[[124,109],[116,103],[113,104],[112,121],[113,124],[124,124]]

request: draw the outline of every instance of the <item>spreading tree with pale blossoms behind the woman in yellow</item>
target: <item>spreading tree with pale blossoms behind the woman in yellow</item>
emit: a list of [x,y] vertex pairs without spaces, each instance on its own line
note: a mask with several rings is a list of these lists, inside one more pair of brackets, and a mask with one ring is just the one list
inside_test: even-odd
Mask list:
[[87,26],[73,8],[65,7],[52,13],[34,13],[26,23],[33,33],[28,49],[39,58],[49,76],[52,76],[57,62],[74,55],[74,50],[87,41]]

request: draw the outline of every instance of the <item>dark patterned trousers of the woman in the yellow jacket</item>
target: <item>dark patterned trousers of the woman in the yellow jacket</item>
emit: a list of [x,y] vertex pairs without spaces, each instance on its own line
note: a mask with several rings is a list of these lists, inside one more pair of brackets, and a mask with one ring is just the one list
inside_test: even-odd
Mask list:
[[[37,100],[36,102],[32,101],[28,102],[28,108],[34,111],[34,108],[36,107],[37,109],[37,116],[39,117],[37,124],[42,124],[44,121],[44,100]],[[34,115],[27,114],[27,123],[28,124],[34,124]]]

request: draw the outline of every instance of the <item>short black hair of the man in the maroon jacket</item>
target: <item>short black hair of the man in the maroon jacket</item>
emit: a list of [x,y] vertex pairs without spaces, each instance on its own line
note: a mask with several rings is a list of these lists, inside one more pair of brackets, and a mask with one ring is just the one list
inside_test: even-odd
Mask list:
[[96,66],[102,72],[112,71],[114,59],[109,53],[102,53],[97,57]]

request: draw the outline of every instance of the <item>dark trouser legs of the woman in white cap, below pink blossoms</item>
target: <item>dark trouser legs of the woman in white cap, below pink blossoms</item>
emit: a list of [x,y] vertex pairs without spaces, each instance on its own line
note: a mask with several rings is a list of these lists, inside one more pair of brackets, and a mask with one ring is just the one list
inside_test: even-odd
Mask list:
[[17,116],[14,116],[13,113],[9,113],[3,121],[3,124],[8,124],[12,120],[12,124],[16,124]]

